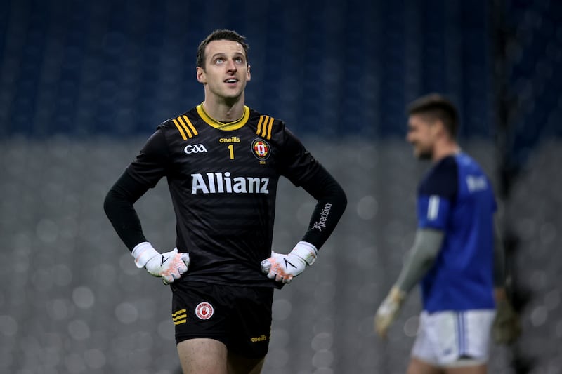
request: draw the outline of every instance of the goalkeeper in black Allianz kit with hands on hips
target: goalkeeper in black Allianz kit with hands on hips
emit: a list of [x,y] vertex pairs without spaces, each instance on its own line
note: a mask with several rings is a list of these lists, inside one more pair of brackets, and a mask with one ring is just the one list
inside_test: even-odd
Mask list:
[[[184,373],[260,373],[270,340],[273,290],[312,265],[346,207],[346,195],[285,123],[244,105],[248,45],[216,30],[197,49],[204,102],[165,121],[105,198],[107,217],[137,267],[172,290]],[[271,250],[277,181],[317,203],[288,254]],[[176,248],[143,235],[133,204],[165,177]]]

